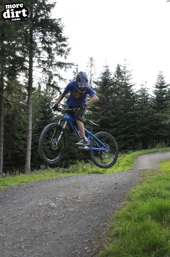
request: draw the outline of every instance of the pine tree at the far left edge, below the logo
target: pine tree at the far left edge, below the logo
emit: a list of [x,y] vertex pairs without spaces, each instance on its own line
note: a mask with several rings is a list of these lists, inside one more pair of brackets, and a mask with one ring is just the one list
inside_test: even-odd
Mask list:
[[[13,0],[10,3],[15,3]],[[0,12],[6,1],[2,0]],[[23,22],[0,20],[0,176],[3,174],[3,125],[4,125],[4,90],[7,81],[15,79],[18,72],[24,71]],[[18,54],[21,53],[22,54]],[[8,86],[10,90],[10,86]]]

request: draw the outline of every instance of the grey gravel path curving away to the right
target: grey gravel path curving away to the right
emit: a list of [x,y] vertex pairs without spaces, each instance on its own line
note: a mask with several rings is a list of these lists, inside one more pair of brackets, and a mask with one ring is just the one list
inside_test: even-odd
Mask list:
[[167,158],[170,152],[140,155],[130,171],[56,178],[1,191],[0,256],[94,256],[110,217],[137,185],[140,169],[155,169],[155,163]]

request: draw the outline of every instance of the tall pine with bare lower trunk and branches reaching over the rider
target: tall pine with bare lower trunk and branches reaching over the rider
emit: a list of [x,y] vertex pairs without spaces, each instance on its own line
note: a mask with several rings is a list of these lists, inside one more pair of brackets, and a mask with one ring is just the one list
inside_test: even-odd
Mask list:
[[56,60],[55,56],[67,58],[70,48],[67,44],[67,37],[62,35],[63,24],[61,19],[52,19],[51,11],[56,3],[47,3],[45,0],[27,1],[30,9],[29,36],[30,40],[27,47],[28,50],[28,123],[27,123],[27,143],[26,143],[26,159],[25,171],[29,173],[31,170],[31,140],[32,140],[32,85],[33,68],[40,69],[41,75],[38,78],[48,81],[54,76],[59,80],[63,80],[58,70],[61,68],[71,68],[72,63]]

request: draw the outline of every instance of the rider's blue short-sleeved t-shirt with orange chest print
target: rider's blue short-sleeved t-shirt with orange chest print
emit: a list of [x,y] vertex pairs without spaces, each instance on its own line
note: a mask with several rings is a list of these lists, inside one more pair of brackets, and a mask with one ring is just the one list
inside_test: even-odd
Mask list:
[[96,95],[96,93],[88,86],[85,94],[80,93],[76,87],[76,81],[71,81],[64,90],[64,94],[70,91],[70,96],[66,101],[68,106],[79,106],[87,102],[87,94],[89,96]]

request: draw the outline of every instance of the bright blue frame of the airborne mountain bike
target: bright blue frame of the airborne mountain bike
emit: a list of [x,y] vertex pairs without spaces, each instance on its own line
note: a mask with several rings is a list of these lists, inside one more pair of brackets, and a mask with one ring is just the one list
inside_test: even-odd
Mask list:
[[[65,124],[64,124],[64,126],[63,126],[63,129],[65,129],[65,127],[66,127],[66,125],[67,125],[67,122],[69,122],[69,124],[71,125],[71,127],[72,127],[73,131],[75,132],[76,136],[80,139],[81,136],[80,136],[79,132],[77,131],[76,127],[75,127],[75,121],[74,121],[74,119],[73,119],[68,113],[66,113],[65,116],[64,116],[64,118],[60,119],[60,121],[62,121],[62,120],[65,120]],[[60,124],[60,121],[58,122],[58,124]],[[95,138],[95,144],[96,144],[96,146],[98,146],[98,148],[86,146],[86,148],[87,148],[88,150],[98,150],[98,151],[105,151],[105,150],[107,150],[107,146],[105,146],[105,144],[103,144],[96,136],[94,136],[94,135],[91,133],[91,131],[88,131],[88,130],[86,130],[85,128],[84,128],[84,130],[85,130],[85,132],[88,134],[88,140],[90,140],[92,137],[94,137],[94,138]],[[54,132],[54,133],[55,133],[55,132]],[[63,130],[61,131],[61,134],[60,134],[60,136],[59,136],[59,138],[58,138],[58,141],[60,141],[60,139],[61,139],[61,137],[62,137],[62,134],[63,134]],[[101,148],[101,147],[97,144],[96,141],[98,141],[102,146],[104,146],[104,148]]]

